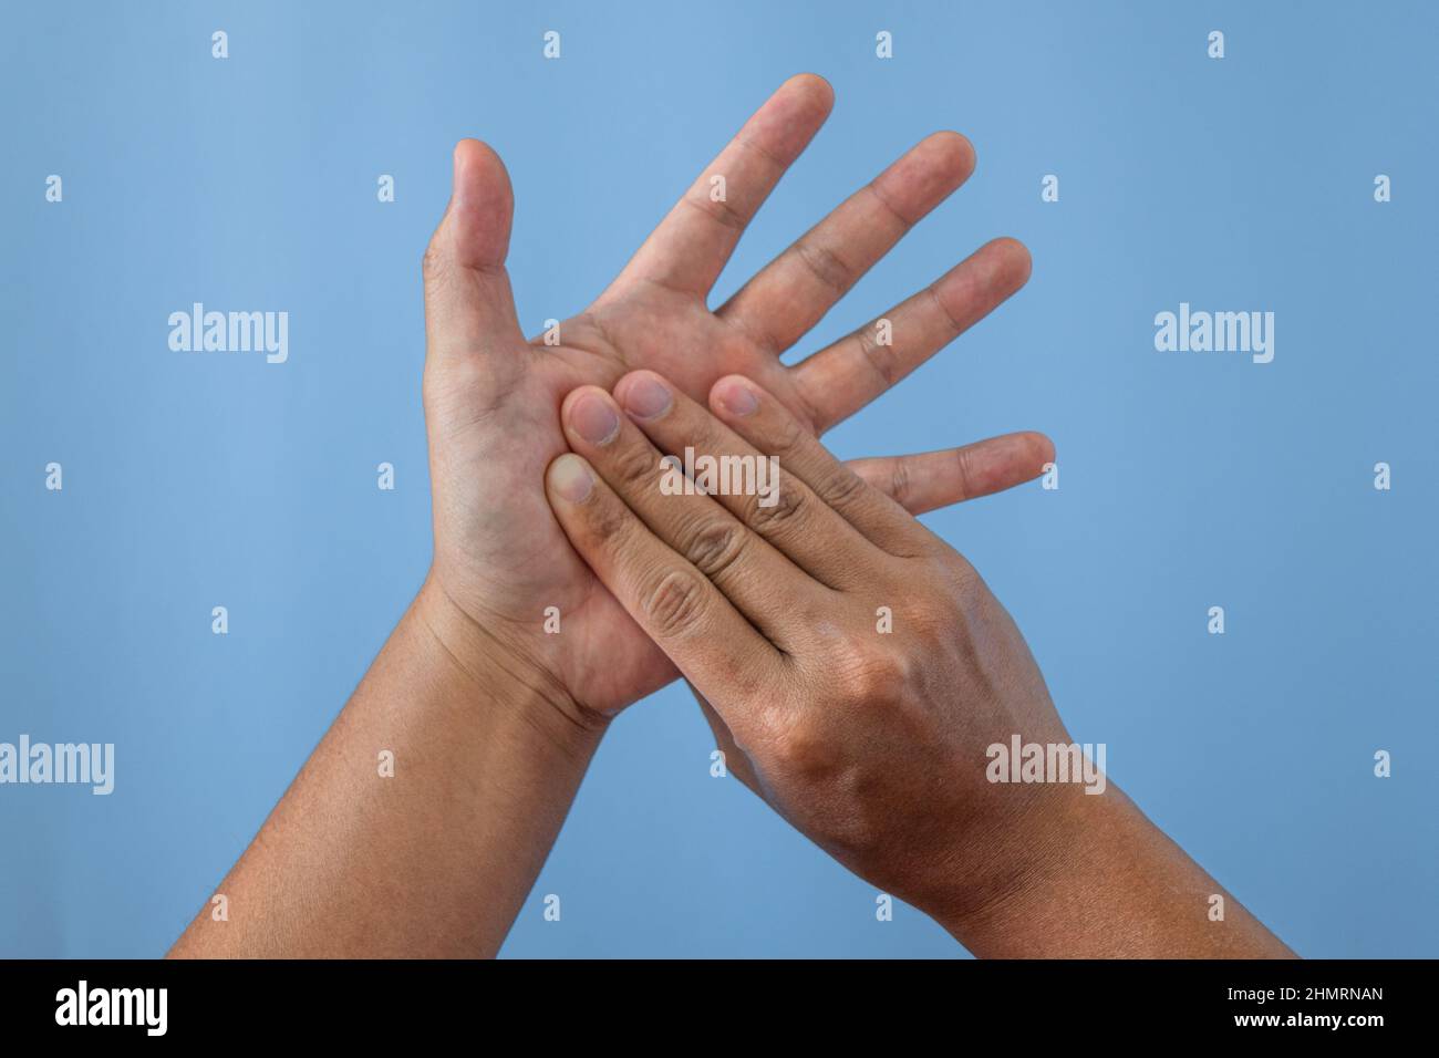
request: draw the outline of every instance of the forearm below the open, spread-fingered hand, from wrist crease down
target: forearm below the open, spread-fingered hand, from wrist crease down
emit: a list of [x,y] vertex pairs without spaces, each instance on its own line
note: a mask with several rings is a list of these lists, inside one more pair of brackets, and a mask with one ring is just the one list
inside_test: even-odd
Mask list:
[[[426,584],[171,956],[492,956],[599,744]],[[393,753],[393,774],[381,764]]]

